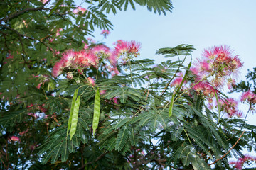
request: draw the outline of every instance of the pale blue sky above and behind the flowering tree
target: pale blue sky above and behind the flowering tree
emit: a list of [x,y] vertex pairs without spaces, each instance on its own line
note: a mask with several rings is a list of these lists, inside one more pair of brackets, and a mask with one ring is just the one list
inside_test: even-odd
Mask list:
[[[256,67],[256,0],[174,0],[174,9],[166,16],[150,12],[143,6],[133,11],[118,11],[108,18],[114,30],[104,40],[112,46],[116,40],[137,40],[142,43],[142,58],[161,62],[166,60],[155,55],[161,47],[175,47],[180,44],[193,45],[197,51],[193,60],[201,57],[201,52],[214,45],[229,45],[235,55],[244,63],[237,81],[245,79],[247,69]],[[86,6],[84,6],[86,8]],[[95,40],[102,40],[101,30],[95,31]],[[230,96],[230,95],[229,95]],[[238,94],[231,96],[238,98]],[[246,113],[247,107],[240,105]],[[248,123],[256,125],[256,115],[247,116]]]

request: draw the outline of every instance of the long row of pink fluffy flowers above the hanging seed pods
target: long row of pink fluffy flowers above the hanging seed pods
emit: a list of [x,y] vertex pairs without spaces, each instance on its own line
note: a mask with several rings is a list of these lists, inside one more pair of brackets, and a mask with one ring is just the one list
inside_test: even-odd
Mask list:
[[[60,61],[56,62],[52,75],[53,77],[58,77],[64,70],[77,69],[78,72],[82,72],[83,69],[89,67],[98,67],[98,64],[101,59],[107,59],[112,67],[110,68],[110,72],[113,74],[119,74],[116,66],[117,60],[122,57],[123,61],[127,60],[127,57],[137,57],[139,55],[140,43],[131,41],[119,41],[117,42],[114,50],[110,50],[109,47],[105,45],[95,45],[92,48],[86,48],[85,50],[81,50],[78,52],[74,52],[73,50],[68,50],[63,53]],[[73,73],[68,72],[68,79],[73,78]]]

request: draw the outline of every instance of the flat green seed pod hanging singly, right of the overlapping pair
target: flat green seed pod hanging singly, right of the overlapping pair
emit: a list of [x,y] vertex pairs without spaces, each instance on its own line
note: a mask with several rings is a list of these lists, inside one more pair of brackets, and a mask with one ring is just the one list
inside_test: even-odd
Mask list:
[[95,135],[95,130],[97,129],[97,126],[99,124],[99,120],[100,120],[100,90],[99,90],[99,87],[97,87],[97,91],[95,94],[95,108],[94,108],[93,120],[92,120],[93,137]]

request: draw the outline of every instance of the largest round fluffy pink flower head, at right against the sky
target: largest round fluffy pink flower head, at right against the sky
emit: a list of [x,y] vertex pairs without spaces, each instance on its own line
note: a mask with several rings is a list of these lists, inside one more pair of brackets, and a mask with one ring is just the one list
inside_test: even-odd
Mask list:
[[[195,67],[191,68],[191,72],[196,76],[196,81],[207,80],[215,89],[223,87],[226,83],[231,88],[235,82],[232,79],[233,76],[236,76],[238,69],[242,67],[238,56],[234,56],[232,53],[228,46],[221,45],[204,50],[201,60],[198,60],[194,64]],[[198,87],[203,88],[205,85],[201,84]]]

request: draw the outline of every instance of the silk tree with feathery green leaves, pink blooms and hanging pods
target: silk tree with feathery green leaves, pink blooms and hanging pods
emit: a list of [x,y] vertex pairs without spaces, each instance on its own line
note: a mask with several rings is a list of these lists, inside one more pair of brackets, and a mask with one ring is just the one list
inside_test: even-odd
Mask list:
[[[1,169],[242,169],[255,157],[252,91],[235,88],[242,62],[230,47],[193,60],[191,45],[165,47],[161,64],[136,40],[114,47],[103,13],[134,2],[171,11],[171,1],[5,1],[1,14]],[[122,7],[124,6],[124,7]],[[75,21],[73,21],[75,19]],[[190,60],[188,66],[184,63]],[[238,157],[228,162],[229,157]],[[250,165],[250,164],[249,164]]]

